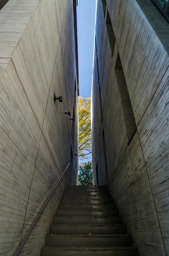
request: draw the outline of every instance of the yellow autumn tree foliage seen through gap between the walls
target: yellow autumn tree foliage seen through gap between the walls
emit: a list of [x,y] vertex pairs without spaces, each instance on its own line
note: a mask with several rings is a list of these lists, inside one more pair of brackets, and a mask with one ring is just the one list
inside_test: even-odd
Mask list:
[[79,157],[86,159],[92,153],[91,97],[78,98],[79,108]]

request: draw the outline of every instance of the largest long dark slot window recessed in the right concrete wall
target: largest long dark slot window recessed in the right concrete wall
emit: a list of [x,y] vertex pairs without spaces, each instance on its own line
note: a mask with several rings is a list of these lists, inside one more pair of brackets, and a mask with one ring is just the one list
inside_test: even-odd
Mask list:
[[129,144],[133,136],[135,135],[137,127],[135,123],[135,116],[133,113],[132,104],[130,101],[129,92],[126,84],[126,79],[123,73],[123,67],[120,61],[119,53],[117,54],[115,74],[116,74],[117,86],[120,94],[124,122],[126,125],[126,132],[127,132],[128,144]]

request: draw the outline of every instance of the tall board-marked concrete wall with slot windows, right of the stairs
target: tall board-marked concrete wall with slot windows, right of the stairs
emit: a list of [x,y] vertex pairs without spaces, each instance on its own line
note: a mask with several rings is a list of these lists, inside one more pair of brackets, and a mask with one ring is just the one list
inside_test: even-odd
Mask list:
[[[141,256],[169,255],[169,24],[162,16],[156,20],[154,8],[149,0],[97,1],[92,85],[94,184],[97,168],[99,184],[106,183],[107,165],[112,198]],[[118,54],[137,127],[130,141],[128,110],[117,79]]]

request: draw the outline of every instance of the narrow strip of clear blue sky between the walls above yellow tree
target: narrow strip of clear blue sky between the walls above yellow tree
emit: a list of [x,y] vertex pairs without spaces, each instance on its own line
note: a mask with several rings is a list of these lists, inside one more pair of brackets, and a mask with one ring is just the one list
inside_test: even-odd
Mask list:
[[77,36],[80,96],[91,96],[96,0],[78,0]]

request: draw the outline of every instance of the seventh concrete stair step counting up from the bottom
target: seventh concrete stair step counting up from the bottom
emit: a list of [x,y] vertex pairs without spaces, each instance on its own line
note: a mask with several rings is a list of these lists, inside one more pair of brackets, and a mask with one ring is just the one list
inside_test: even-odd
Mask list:
[[113,199],[62,199],[61,204],[113,204]]

